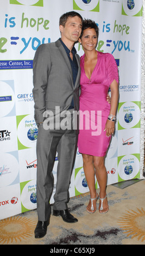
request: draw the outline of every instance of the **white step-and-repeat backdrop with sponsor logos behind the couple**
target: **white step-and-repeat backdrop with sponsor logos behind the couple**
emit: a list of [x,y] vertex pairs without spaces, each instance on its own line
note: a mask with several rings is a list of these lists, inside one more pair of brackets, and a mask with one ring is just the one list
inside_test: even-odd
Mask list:
[[[108,185],[141,178],[142,0],[1,0],[1,219],[37,207],[33,58],[40,44],[56,41],[60,37],[59,17],[71,10],[98,24],[97,50],[112,53],[118,65],[116,132],[105,159]],[[84,54],[79,44],[75,48],[80,56]],[[51,203],[54,202],[57,164],[56,155]],[[82,157],[77,151],[70,197],[88,191]]]

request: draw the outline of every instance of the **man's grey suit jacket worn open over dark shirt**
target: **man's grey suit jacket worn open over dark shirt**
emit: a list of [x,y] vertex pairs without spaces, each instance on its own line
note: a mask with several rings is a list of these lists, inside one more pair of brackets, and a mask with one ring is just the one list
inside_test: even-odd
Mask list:
[[75,54],[78,62],[78,75],[73,86],[73,75],[70,60],[60,40],[42,44],[37,48],[33,61],[33,97],[34,118],[36,123],[45,118],[46,110],[60,107],[60,112],[68,109],[74,98],[74,110],[79,110],[80,86],[80,58]]

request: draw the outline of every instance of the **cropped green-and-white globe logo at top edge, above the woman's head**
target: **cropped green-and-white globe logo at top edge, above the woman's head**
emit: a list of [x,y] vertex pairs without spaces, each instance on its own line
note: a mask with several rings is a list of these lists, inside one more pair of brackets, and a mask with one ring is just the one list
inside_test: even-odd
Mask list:
[[99,12],[99,0],[73,0],[73,10]]

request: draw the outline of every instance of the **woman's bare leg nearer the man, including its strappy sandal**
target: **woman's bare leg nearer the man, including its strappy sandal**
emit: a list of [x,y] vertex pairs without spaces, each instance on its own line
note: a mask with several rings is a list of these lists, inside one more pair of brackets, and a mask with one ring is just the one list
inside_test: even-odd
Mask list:
[[[91,198],[96,198],[97,193],[96,193],[96,187],[95,187],[95,172],[94,172],[94,166],[93,166],[93,156],[91,155],[86,155],[82,154],[83,156],[83,168],[84,168],[84,173],[87,181],[87,185],[89,186],[90,190],[90,197]],[[90,213],[93,213],[96,211],[96,201],[98,198],[89,202],[89,205],[87,205],[87,211]],[[93,204],[93,209],[91,210],[91,204]]]

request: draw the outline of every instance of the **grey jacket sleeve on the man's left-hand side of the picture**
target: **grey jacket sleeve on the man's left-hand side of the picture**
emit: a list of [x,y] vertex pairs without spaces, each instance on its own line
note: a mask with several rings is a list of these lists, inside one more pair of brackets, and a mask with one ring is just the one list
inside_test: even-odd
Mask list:
[[50,68],[51,56],[47,44],[42,44],[37,48],[33,60],[33,98],[36,123],[41,123],[45,119],[43,113],[46,110],[45,95]]

